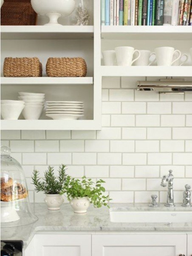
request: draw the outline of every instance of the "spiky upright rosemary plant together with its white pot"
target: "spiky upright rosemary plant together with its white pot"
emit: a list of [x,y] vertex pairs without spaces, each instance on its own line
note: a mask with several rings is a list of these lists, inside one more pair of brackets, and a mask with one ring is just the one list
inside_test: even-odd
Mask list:
[[48,170],[44,173],[44,178],[40,179],[40,172],[34,170],[32,181],[37,192],[44,192],[46,197],[44,199],[49,210],[58,210],[63,203],[61,195],[65,186],[67,175],[65,174],[66,166],[62,164],[59,166],[59,176],[54,175],[54,167],[48,166]]

